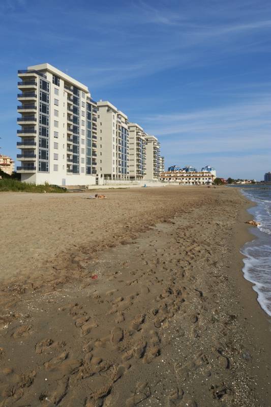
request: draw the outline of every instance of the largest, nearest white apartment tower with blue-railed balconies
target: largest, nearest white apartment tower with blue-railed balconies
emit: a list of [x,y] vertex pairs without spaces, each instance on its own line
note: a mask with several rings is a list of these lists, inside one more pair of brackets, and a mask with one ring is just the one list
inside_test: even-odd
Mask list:
[[49,64],[19,70],[18,76],[21,180],[95,184],[97,105],[87,86]]

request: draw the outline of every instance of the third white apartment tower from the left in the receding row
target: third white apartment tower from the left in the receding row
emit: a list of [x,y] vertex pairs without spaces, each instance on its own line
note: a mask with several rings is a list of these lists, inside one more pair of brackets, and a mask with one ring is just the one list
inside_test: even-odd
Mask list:
[[137,123],[128,123],[130,180],[142,180],[146,175],[146,133]]

